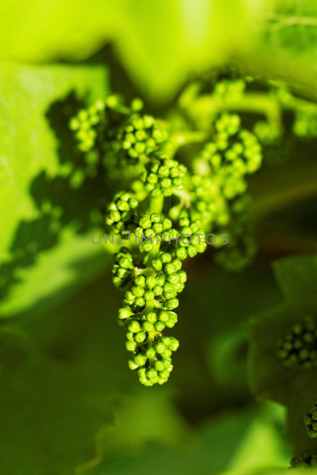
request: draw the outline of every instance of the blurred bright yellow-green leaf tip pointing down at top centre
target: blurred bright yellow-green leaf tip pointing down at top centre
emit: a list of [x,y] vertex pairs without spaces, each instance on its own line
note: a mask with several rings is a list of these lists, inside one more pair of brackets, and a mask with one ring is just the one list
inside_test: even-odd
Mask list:
[[[256,41],[245,0],[125,1],[116,51],[152,99],[170,97],[195,72],[223,64]],[[236,19],[239,17],[239,25]],[[251,36],[252,35],[252,36]]]

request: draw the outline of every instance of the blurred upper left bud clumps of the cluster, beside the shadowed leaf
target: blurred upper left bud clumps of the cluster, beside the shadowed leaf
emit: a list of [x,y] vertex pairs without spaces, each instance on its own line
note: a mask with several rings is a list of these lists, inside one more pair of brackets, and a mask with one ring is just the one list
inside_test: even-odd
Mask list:
[[125,105],[120,95],[108,95],[87,109],[81,109],[69,123],[80,152],[102,159],[115,175],[126,164],[136,164],[159,151],[168,139],[163,122],[141,115],[143,102],[134,99]]

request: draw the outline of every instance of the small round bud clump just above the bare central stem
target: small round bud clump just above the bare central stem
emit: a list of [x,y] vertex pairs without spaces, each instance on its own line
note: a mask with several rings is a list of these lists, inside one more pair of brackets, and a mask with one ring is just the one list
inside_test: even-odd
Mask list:
[[140,174],[145,190],[151,192],[153,198],[171,196],[173,188],[182,190],[183,177],[187,168],[177,160],[170,159],[161,154],[145,165],[145,170]]

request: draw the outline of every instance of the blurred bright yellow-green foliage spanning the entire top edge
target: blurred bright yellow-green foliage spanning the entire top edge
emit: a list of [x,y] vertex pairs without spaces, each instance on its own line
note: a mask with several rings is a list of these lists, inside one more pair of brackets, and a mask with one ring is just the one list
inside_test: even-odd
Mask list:
[[[144,94],[170,98],[188,75],[233,61],[314,95],[317,7],[313,0],[83,0],[1,4],[0,57],[82,60],[106,42]],[[239,21],[237,21],[239,18]],[[296,67],[295,67],[296,65]]]

